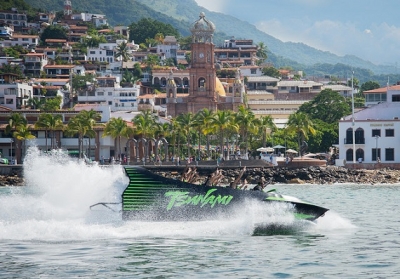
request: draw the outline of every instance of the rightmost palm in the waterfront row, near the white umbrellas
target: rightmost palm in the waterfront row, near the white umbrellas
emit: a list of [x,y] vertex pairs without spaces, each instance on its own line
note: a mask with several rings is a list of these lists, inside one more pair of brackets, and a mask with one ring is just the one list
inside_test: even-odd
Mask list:
[[307,114],[303,112],[296,112],[295,114],[291,114],[289,116],[289,120],[287,122],[288,132],[294,132],[297,135],[297,143],[299,145],[299,153],[302,156],[301,152],[301,144],[304,140],[308,139],[308,135],[316,134],[316,130],[314,129],[314,124],[310,120]]

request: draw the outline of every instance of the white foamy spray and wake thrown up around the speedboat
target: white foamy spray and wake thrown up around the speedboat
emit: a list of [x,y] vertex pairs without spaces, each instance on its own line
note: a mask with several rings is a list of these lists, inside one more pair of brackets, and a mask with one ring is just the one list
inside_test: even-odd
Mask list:
[[[253,235],[257,224],[296,224],[283,204],[247,204],[230,218],[201,222],[122,221],[121,207],[90,210],[98,201],[120,202],[128,178],[121,166],[86,165],[60,156],[41,156],[31,147],[24,162],[25,187],[0,189],[0,239],[82,241],[138,237]],[[334,218],[335,222],[332,222]],[[269,220],[265,223],[265,220]],[[336,225],[334,225],[336,224]],[[339,225],[338,225],[339,224]],[[297,225],[295,225],[297,226]],[[351,227],[331,211],[316,224],[329,231]],[[297,228],[297,227],[296,227]],[[298,232],[295,232],[298,233]],[[257,235],[268,235],[257,233]]]

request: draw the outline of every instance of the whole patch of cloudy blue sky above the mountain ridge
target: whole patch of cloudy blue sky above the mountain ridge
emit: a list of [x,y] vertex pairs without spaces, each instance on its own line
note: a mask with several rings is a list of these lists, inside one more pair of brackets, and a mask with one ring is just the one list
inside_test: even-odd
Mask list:
[[195,1],[284,42],[400,67],[399,0]]

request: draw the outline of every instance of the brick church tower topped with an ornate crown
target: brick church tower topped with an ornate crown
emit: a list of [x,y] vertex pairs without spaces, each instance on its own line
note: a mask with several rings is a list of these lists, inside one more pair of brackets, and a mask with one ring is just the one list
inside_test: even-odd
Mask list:
[[214,64],[215,25],[200,13],[200,18],[192,24],[192,53],[188,112],[197,113],[203,108],[217,110],[218,94],[216,87],[216,69]]

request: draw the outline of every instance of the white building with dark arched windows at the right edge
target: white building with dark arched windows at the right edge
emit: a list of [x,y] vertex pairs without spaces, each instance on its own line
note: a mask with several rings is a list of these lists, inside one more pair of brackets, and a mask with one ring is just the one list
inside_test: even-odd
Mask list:
[[355,162],[353,167],[376,168],[379,163],[379,167],[400,168],[399,118],[400,85],[388,88],[387,102],[354,113],[354,124],[352,115],[343,117],[339,121],[340,161]]

